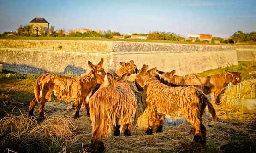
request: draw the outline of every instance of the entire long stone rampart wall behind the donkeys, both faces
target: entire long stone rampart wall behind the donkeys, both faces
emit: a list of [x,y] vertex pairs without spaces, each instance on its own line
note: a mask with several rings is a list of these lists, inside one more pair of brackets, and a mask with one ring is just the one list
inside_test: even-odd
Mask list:
[[[60,49],[59,46],[62,46]],[[236,65],[234,46],[139,43],[87,40],[0,40],[3,68],[20,73],[46,72],[79,75],[104,58],[104,67],[119,68],[119,62],[134,60],[177,74],[199,73],[208,69]]]

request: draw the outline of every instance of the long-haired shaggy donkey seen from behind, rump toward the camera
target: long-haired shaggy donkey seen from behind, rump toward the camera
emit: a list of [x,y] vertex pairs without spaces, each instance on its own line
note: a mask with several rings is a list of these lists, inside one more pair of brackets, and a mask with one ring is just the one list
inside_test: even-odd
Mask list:
[[131,136],[131,125],[137,109],[137,100],[131,85],[126,81],[127,74],[113,79],[107,73],[109,85],[100,88],[89,100],[92,121],[91,152],[103,152],[102,137],[107,138],[114,128],[114,136],[124,130]]

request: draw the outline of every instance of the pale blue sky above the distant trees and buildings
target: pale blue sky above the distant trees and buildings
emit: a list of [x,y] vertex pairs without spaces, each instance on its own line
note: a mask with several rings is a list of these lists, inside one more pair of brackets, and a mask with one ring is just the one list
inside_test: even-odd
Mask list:
[[55,29],[213,34],[256,31],[256,0],[0,0],[0,33],[34,17]]

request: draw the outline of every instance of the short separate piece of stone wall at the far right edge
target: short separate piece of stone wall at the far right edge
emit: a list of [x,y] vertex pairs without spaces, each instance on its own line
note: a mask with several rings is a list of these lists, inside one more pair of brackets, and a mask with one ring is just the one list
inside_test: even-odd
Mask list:
[[238,45],[238,61],[256,61],[256,45]]

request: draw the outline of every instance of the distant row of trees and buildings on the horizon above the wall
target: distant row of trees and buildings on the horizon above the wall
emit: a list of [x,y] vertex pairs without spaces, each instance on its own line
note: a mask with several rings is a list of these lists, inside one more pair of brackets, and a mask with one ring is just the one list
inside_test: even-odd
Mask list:
[[[35,17],[32,19],[28,25],[24,27],[20,26],[15,32],[4,32],[1,37],[6,36],[49,36],[49,37],[105,37],[113,39],[140,39],[140,40],[171,40],[171,41],[181,41],[181,42],[203,42],[203,43],[234,43],[239,42],[241,39],[238,37],[239,34],[243,35],[241,31],[236,32],[237,37],[232,38],[220,38],[213,37],[212,34],[187,34],[187,38],[181,37],[179,34],[166,33],[166,32],[150,32],[149,34],[137,34],[137,33],[125,33],[120,34],[119,32],[112,32],[110,30],[93,30],[89,28],[77,28],[70,31],[65,31],[63,29],[54,30],[54,26],[49,26],[50,23],[43,17]],[[253,34],[255,32],[252,32]],[[248,34],[248,35],[251,35]],[[252,38],[254,39],[254,38]]]

